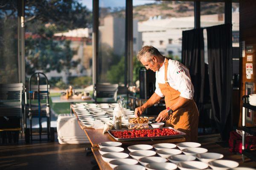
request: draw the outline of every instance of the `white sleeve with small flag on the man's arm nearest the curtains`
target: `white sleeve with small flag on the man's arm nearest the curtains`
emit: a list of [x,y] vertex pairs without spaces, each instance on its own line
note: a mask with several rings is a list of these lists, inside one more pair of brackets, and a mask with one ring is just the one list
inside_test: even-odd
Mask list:
[[174,69],[173,75],[180,96],[192,100],[194,97],[194,86],[191,82],[189,70],[185,66],[180,65]]

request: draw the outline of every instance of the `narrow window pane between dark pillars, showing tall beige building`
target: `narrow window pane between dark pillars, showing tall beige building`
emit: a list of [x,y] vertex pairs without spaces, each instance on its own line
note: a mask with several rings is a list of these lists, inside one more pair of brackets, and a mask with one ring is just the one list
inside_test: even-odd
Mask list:
[[124,85],[125,0],[99,0],[97,83]]

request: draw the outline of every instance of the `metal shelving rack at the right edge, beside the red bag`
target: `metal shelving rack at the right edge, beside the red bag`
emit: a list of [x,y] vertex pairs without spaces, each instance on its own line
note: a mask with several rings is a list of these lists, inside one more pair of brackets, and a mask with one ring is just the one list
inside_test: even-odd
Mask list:
[[243,111],[242,111],[242,160],[244,162],[245,156],[253,161],[256,161],[256,150],[247,150],[245,148],[245,133],[256,135],[256,127],[246,127],[245,125],[245,114],[247,109],[256,111],[256,106],[249,104],[249,96],[244,95],[243,98]]

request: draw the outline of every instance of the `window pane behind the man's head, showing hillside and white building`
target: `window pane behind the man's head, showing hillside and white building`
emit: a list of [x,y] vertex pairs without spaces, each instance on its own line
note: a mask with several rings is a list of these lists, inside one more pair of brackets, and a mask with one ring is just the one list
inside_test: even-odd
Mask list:
[[162,55],[181,59],[182,31],[194,28],[194,2],[133,0],[134,81],[140,64],[136,60],[142,46],[156,47]]

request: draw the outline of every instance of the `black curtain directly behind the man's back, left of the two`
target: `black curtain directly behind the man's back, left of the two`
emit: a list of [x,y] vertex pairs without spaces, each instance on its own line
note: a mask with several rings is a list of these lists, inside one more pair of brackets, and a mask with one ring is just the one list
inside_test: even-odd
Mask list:
[[199,113],[204,104],[204,34],[203,29],[192,29],[182,32],[182,63],[189,69],[194,85],[194,100]]

